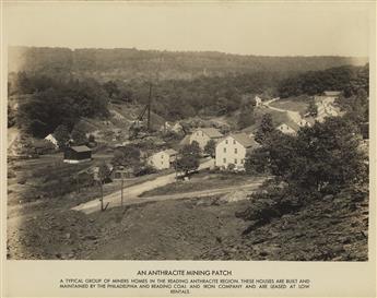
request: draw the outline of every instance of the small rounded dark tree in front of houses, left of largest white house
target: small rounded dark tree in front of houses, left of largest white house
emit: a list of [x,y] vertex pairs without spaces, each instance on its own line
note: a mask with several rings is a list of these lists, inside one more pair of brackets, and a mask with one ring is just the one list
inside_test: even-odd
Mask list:
[[200,165],[200,147],[198,142],[185,145],[177,159],[177,170],[184,171],[187,176],[190,171],[197,170]]

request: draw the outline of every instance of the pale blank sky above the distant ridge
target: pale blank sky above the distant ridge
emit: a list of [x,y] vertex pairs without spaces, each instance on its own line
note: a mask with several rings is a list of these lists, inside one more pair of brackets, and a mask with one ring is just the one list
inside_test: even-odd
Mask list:
[[[369,5],[369,7],[368,7]],[[367,57],[370,3],[4,3],[11,46]]]

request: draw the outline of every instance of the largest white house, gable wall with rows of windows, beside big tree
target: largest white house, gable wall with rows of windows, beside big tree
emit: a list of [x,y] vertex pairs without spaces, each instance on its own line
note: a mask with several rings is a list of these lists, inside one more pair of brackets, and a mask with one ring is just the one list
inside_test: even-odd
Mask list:
[[216,145],[215,166],[225,169],[234,165],[236,169],[243,170],[246,153],[257,146],[258,143],[244,132],[229,134]]

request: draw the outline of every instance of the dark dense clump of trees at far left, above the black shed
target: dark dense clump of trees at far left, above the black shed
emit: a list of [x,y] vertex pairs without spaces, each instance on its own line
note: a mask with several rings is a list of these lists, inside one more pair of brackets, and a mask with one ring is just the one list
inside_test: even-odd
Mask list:
[[108,116],[108,95],[94,80],[58,80],[21,72],[15,94],[32,94],[19,103],[16,124],[34,136],[46,136],[57,127],[72,130],[81,117]]

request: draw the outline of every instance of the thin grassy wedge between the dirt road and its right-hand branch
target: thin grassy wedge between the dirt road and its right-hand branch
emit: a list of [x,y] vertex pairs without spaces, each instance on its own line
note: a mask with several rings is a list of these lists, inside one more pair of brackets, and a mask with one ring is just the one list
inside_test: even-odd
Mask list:
[[151,191],[145,191],[140,196],[153,196],[153,195],[164,195],[174,194],[191,191],[201,191],[209,189],[220,189],[226,187],[240,186],[248,182],[252,182],[254,177],[241,175],[241,174],[209,174],[200,172],[193,176],[189,181],[177,181],[169,183],[164,187],[153,189]]

